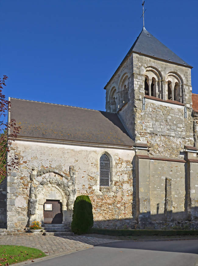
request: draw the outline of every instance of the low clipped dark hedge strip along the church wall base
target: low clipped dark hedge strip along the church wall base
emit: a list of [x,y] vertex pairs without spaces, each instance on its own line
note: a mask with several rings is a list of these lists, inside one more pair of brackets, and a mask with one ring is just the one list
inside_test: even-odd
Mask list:
[[197,236],[198,230],[125,230],[91,228],[89,233],[108,236]]

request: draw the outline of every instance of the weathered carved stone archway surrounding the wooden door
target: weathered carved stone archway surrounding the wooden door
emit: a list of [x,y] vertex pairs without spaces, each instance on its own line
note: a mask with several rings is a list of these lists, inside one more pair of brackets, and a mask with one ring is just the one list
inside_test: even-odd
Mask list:
[[37,171],[33,166],[30,180],[29,223],[34,220],[44,222],[43,205],[46,199],[62,202],[63,223],[71,222],[76,199],[75,167],[69,167],[67,176],[52,168]]

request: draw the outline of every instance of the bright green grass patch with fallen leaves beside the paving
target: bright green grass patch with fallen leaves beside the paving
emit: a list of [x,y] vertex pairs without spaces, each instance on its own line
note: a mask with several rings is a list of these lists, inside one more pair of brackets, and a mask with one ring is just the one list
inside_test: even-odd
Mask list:
[[10,265],[44,256],[46,254],[43,251],[33,247],[0,245],[0,265]]

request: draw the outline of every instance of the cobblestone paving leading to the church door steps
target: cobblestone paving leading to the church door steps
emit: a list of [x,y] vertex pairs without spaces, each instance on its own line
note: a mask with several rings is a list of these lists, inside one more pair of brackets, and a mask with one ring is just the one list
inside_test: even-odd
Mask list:
[[48,252],[49,255],[75,251],[82,248],[88,248],[115,241],[118,240],[101,239],[87,236],[0,236],[1,244],[35,247],[44,252]]

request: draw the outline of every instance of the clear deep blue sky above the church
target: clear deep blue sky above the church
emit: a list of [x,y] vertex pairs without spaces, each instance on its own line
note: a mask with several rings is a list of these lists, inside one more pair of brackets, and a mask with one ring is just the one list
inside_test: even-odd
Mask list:
[[[142,30],[141,0],[1,0],[6,96],[105,110],[103,89]],[[197,0],[146,0],[145,27],[192,69]]]

